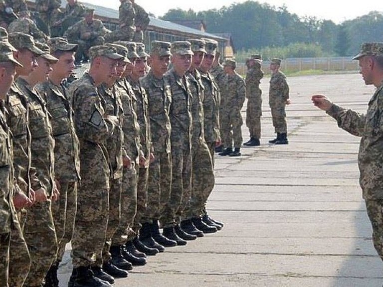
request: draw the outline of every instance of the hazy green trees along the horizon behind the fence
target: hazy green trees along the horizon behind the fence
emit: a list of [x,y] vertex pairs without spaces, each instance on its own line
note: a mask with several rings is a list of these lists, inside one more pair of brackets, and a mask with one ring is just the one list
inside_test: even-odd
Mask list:
[[278,52],[283,58],[351,56],[363,42],[383,41],[383,14],[378,11],[336,24],[315,16],[300,17],[285,5],[246,1],[200,12],[170,9],[161,18],[202,20],[208,33],[230,33],[237,59],[255,52],[265,57]]

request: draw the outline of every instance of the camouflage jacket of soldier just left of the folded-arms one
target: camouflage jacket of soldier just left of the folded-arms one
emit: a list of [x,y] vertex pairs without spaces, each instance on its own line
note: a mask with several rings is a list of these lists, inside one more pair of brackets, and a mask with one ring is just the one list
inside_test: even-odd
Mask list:
[[54,145],[54,171],[60,182],[80,180],[79,143],[74,129],[73,110],[66,88],[51,81],[36,86],[51,116]]

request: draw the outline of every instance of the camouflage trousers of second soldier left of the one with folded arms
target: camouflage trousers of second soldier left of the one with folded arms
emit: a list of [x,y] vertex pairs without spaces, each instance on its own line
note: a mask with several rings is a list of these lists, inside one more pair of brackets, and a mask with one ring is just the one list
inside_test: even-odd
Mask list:
[[57,254],[57,238],[50,200],[36,202],[28,209],[24,238],[31,259],[24,286],[39,287]]

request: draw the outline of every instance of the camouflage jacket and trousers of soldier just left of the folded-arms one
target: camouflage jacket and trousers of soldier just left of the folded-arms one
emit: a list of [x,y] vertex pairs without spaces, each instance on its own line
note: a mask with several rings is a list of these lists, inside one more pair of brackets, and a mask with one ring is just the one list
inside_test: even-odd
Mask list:
[[61,188],[59,199],[52,202],[52,214],[59,244],[56,261],[61,262],[65,245],[72,238],[76,214],[77,184],[80,180],[79,143],[66,88],[62,84],[56,86],[47,81],[36,89],[46,101],[55,140],[55,177]]

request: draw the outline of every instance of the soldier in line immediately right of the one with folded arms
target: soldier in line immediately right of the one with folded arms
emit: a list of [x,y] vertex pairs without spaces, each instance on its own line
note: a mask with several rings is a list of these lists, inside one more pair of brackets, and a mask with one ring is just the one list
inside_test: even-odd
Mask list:
[[106,46],[114,47],[117,53],[123,55],[124,58],[117,60],[116,77],[109,78],[97,88],[104,102],[106,116],[114,116],[118,119],[112,136],[106,139],[106,149],[108,150],[111,175],[110,175],[110,191],[109,191],[109,219],[106,230],[105,244],[101,253],[102,256],[96,255],[97,262],[102,269],[115,278],[128,277],[128,270],[132,270],[132,264],[126,261],[121,254],[120,249],[112,248],[112,236],[116,232],[120,223],[120,205],[122,192],[122,172],[123,172],[123,143],[124,134],[123,125],[123,108],[121,96],[116,90],[115,82],[117,77],[124,72],[125,65],[129,60],[126,58],[128,50],[117,44],[107,44]]

